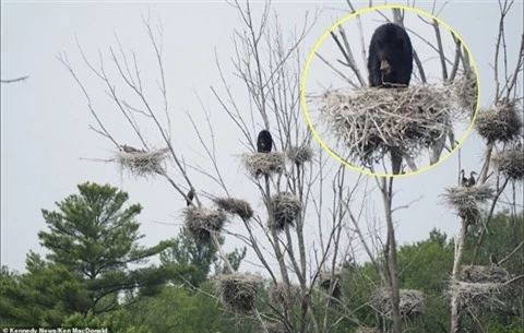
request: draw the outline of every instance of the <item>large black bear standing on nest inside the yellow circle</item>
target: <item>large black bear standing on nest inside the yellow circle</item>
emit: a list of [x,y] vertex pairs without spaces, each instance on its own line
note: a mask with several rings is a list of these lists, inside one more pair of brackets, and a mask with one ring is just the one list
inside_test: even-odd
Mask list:
[[409,85],[413,47],[402,26],[385,23],[374,31],[369,44],[368,71],[370,86]]

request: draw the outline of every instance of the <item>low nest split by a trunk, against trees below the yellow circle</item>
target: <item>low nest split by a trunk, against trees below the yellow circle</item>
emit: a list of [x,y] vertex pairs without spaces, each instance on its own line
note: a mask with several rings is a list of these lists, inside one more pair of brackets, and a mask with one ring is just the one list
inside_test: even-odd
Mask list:
[[[424,293],[412,289],[400,290],[398,310],[401,317],[404,319],[413,318],[416,314],[422,314],[425,311]],[[379,288],[374,292],[372,297],[373,306],[379,309],[385,317],[391,317],[392,302],[391,302],[391,289]]]

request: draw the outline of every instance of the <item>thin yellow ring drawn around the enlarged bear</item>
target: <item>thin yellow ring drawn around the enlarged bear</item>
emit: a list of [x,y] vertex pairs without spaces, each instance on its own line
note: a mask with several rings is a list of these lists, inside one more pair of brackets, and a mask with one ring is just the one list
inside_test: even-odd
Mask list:
[[[477,103],[476,103],[476,106],[475,106],[475,112],[473,115],[473,120],[471,121],[469,123],[469,127],[467,128],[466,132],[462,135],[461,140],[458,140],[458,144],[451,151],[449,152],[444,157],[440,158],[437,163],[434,163],[433,165],[428,165],[426,167],[422,167],[414,173],[406,173],[405,175],[391,175],[391,174],[378,174],[378,173],[371,173],[365,168],[358,168],[349,163],[347,163],[344,158],[342,158],[341,156],[338,156],[335,152],[333,152],[326,144],[325,142],[322,140],[322,138],[320,138],[319,133],[317,132],[317,130],[314,129],[314,126],[311,121],[311,118],[309,117],[309,108],[308,108],[308,104],[306,102],[306,82],[307,82],[307,78],[308,78],[308,74],[309,74],[309,67],[311,64],[311,61],[313,60],[314,58],[314,55],[317,53],[317,50],[319,49],[319,47],[322,45],[322,43],[324,41],[324,39],[335,29],[337,28],[341,24],[345,23],[346,21],[349,21],[350,19],[353,17],[356,17],[358,15],[361,15],[361,14],[365,14],[367,12],[371,12],[371,11],[377,11],[377,10],[388,10],[388,9],[403,9],[403,10],[407,10],[407,11],[412,11],[412,12],[415,12],[417,14],[421,14],[421,15],[426,15],[426,16],[429,16],[431,19],[434,19],[440,25],[442,25],[443,27],[445,27],[448,31],[450,31],[460,41],[461,41],[461,45],[466,49],[466,52],[467,52],[467,56],[469,58],[469,61],[472,63],[472,67],[473,67],[473,70],[474,70],[474,73],[475,73],[475,79],[477,81]],[[463,144],[463,142],[467,139],[467,136],[469,135],[469,132],[472,131],[473,129],[473,124],[475,123],[475,119],[477,118],[477,111],[478,111],[478,107],[479,107],[479,102],[480,102],[480,80],[478,80],[478,68],[477,68],[477,63],[475,62],[475,59],[473,58],[473,55],[472,52],[469,51],[469,48],[467,47],[467,45],[464,43],[464,40],[462,40],[461,36],[458,36],[458,34],[451,27],[449,26],[445,22],[443,22],[442,20],[440,20],[439,17],[426,12],[426,11],[422,11],[420,9],[416,9],[416,8],[410,8],[410,7],[407,7],[407,5],[401,5],[401,4],[383,4],[383,5],[374,5],[374,7],[370,7],[370,8],[366,8],[366,9],[361,9],[361,10],[358,10],[356,11],[355,13],[353,14],[349,14],[347,16],[344,16],[343,19],[341,19],[338,22],[336,22],[332,27],[330,27],[321,37],[320,39],[317,41],[317,44],[313,46],[313,49],[311,50],[309,57],[308,57],[308,60],[306,61],[306,66],[303,68],[303,73],[302,73],[302,81],[301,81],[301,84],[300,84],[300,99],[301,99],[301,104],[302,104],[302,110],[303,110],[303,114],[306,116],[306,120],[308,121],[308,126],[309,126],[309,129],[311,130],[311,132],[313,133],[313,136],[314,139],[320,143],[320,145],[322,146],[322,148],[324,151],[326,151],[333,158],[335,158],[338,163],[342,163],[344,164],[345,166],[349,167],[350,169],[355,170],[355,171],[359,171],[359,173],[362,173],[365,175],[368,175],[368,176],[376,176],[376,177],[393,177],[393,178],[404,178],[404,177],[408,177],[408,176],[414,176],[414,175],[418,175],[418,174],[421,174],[426,170],[429,170],[438,165],[440,165],[442,162],[444,162],[445,159],[448,159],[454,152],[456,152],[461,145]]]

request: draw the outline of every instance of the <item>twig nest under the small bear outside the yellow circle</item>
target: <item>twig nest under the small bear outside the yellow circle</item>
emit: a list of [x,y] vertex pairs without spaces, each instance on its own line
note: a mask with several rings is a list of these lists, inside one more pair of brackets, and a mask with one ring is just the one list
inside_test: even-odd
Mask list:
[[247,171],[254,178],[282,174],[285,158],[282,153],[252,153],[242,156],[242,163]]

